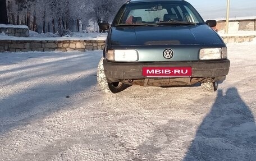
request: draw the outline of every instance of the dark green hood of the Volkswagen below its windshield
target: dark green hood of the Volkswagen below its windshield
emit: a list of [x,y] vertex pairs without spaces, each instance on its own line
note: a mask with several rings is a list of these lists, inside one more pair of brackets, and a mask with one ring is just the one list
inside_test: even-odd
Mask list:
[[111,29],[111,45],[195,45],[223,44],[207,25],[117,26]]

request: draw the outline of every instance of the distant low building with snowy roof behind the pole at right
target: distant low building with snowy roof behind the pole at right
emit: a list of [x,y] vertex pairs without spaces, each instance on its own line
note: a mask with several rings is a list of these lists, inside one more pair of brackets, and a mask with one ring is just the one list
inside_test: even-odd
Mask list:
[[[218,31],[225,30],[226,19],[216,19]],[[256,31],[256,16],[229,19],[228,31]]]

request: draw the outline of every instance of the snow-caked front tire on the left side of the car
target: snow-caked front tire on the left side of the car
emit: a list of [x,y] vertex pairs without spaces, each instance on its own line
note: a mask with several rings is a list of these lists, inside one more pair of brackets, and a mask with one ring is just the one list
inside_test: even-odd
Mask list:
[[104,93],[118,93],[131,86],[124,84],[123,82],[108,82],[104,72],[103,59],[104,58],[100,59],[97,69],[97,81],[100,90]]

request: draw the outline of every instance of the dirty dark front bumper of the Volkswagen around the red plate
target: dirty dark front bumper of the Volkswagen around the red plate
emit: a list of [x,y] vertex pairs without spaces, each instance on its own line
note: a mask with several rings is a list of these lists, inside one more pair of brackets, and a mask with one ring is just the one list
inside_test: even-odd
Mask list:
[[143,67],[191,67],[191,78],[220,77],[223,80],[228,74],[230,61],[225,59],[193,62],[108,62],[104,59],[103,66],[109,82],[148,79],[142,75]]

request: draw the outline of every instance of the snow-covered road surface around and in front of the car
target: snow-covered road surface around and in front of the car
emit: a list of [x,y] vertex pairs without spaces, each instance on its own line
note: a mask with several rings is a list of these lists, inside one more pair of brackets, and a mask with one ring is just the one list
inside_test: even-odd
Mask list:
[[0,160],[255,160],[256,44],[200,86],[103,94],[101,52],[0,53]]

